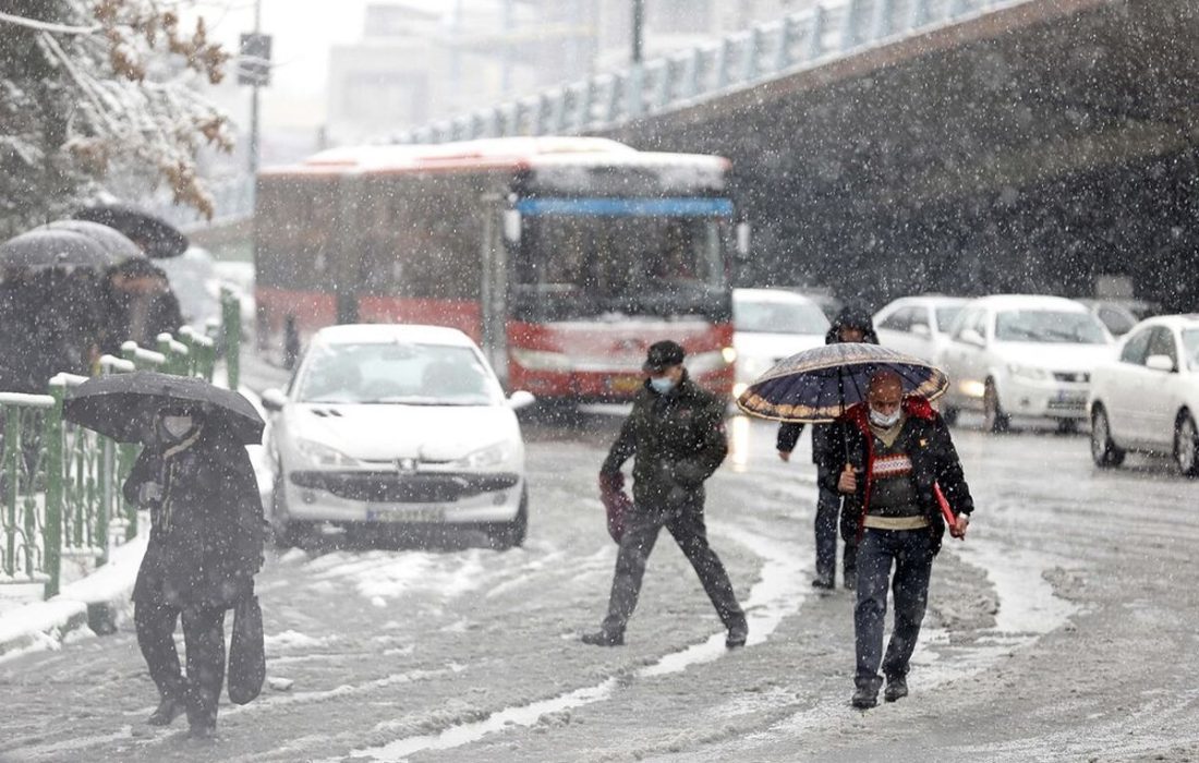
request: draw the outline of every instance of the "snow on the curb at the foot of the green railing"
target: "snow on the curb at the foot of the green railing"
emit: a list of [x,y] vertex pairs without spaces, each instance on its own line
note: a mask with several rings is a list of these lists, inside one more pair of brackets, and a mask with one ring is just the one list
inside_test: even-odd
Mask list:
[[0,661],[36,650],[60,649],[74,632],[110,633],[126,608],[146,549],[143,533],[113,549],[108,564],[71,583],[49,601],[35,601],[0,615]]

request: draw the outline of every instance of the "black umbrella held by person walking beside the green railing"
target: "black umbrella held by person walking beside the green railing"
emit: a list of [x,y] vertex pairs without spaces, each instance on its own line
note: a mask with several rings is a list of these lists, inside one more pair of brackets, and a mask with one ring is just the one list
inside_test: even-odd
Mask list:
[[158,410],[171,405],[198,405],[206,426],[219,427],[242,444],[263,440],[263,417],[242,395],[197,377],[153,371],[88,379],[67,395],[62,415],[120,443],[135,443],[145,438]]

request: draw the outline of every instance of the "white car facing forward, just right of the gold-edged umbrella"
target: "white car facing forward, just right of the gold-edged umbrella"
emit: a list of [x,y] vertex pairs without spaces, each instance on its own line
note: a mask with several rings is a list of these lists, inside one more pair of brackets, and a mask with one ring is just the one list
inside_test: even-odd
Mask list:
[[1001,432],[1012,419],[1049,419],[1072,431],[1086,419],[1091,372],[1113,356],[1111,335],[1086,307],[1061,296],[971,300],[936,365],[950,377],[941,414],[981,410]]

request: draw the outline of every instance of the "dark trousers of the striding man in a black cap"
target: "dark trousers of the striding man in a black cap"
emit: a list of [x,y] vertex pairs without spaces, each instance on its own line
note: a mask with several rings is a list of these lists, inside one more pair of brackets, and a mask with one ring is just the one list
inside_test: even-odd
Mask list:
[[625,632],[628,618],[637,608],[637,597],[641,593],[645,564],[663,527],[674,536],[679,548],[691,561],[724,627],[743,624],[746,615],[733,594],[729,575],[724,571],[719,557],[707,545],[704,503],[699,499],[688,499],[677,509],[669,511],[637,506],[629,513],[625,534],[620,539],[620,552],[616,554],[616,573],[611,581],[611,596],[608,599],[608,617],[604,618],[603,630],[608,633]]

